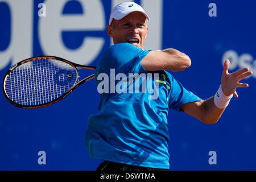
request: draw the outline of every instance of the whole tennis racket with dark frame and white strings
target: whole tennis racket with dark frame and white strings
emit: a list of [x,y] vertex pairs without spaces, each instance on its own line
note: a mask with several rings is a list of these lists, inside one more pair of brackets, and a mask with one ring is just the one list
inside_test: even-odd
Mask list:
[[20,61],[3,79],[7,100],[22,108],[39,108],[62,100],[94,74],[79,81],[77,68],[96,69],[56,56],[36,56]]

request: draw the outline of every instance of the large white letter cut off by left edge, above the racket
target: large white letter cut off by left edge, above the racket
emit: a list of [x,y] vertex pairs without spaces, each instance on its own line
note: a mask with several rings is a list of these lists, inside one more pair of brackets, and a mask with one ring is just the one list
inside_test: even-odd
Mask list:
[[[32,56],[32,3],[30,0],[0,0],[9,6],[11,12],[11,38],[9,47],[0,51],[0,69]],[[1,42],[0,42],[1,43]]]

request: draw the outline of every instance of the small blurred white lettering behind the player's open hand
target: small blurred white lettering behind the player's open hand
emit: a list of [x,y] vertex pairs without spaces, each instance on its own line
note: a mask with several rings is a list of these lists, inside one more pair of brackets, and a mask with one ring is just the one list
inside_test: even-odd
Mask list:
[[250,71],[253,72],[253,75],[251,76],[256,78],[256,60],[253,60],[253,56],[251,56],[249,53],[243,53],[242,55],[238,56],[236,51],[229,50],[226,51],[222,56],[222,65],[224,65],[224,62],[227,59],[230,61],[230,70],[236,69],[237,67],[240,69],[249,68]]

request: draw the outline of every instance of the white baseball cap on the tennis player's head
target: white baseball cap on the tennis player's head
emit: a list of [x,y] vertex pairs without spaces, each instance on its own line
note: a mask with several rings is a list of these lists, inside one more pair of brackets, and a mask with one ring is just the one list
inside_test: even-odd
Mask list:
[[116,20],[122,19],[123,17],[127,16],[130,13],[133,13],[134,11],[141,12],[143,15],[146,16],[146,18],[148,20],[150,20],[150,18],[148,17],[146,12],[143,10],[143,8],[141,6],[139,6],[137,3],[124,2],[124,3],[118,4],[112,10],[112,12],[110,14],[110,18],[109,18],[109,25],[112,23],[113,19],[116,19]]

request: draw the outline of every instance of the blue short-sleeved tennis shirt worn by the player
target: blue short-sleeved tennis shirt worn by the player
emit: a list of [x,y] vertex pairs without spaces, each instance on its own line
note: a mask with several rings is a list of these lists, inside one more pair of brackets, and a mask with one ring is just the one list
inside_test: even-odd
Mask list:
[[[120,43],[106,50],[98,62],[99,111],[90,115],[85,133],[85,146],[92,159],[169,168],[168,109],[180,111],[181,105],[201,98],[186,90],[166,71],[147,72],[140,62],[148,52],[129,43]],[[118,77],[119,73],[127,79]],[[129,73],[141,76],[137,85],[129,81]],[[158,77],[154,77],[155,73]],[[152,89],[147,89],[145,81],[151,82]],[[154,94],[158,97],[152,98]]]

